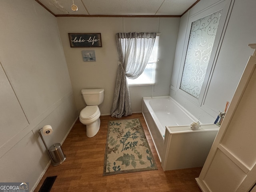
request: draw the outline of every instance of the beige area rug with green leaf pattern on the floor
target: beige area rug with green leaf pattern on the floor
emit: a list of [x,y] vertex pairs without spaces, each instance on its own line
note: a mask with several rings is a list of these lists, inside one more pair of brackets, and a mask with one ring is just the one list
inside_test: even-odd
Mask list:
[[157,170],[139,119],[108,122],[103,176]]

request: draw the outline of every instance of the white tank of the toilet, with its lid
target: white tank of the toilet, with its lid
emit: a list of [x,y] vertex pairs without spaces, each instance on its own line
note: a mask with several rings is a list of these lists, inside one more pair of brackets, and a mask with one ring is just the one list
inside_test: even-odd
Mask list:
[[82,89],[84,101],[87,105],[99,105],[104,99],[104,89]]

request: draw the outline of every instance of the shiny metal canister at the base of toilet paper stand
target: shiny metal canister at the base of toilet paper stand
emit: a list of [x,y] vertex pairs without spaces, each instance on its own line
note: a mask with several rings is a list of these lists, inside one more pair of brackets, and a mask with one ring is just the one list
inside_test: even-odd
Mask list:
[[50,155],[52,156],[52,165],[57,166],[64,162],[66,155],[64,155],[60,143],[55,143],[49,148]]

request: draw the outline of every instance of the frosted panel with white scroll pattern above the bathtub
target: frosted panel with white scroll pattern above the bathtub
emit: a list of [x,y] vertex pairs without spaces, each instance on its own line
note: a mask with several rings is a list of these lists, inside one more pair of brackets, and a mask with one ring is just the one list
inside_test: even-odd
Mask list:
[[180,89],[199,98],[222,10],[192,22]]

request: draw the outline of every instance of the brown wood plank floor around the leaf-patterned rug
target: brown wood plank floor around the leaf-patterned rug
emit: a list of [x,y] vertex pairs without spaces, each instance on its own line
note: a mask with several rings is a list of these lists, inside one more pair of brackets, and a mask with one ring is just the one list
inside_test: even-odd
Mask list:
[[51,192],[201,192],[194,178],[202,168],[164,172],[142,114],[125,118],[140,118],[158,170],[102,176],[108,121],[116,118],[100,116],[100,130],[92,138],[86,136],[85,125],[76,122],[62,144],[66,160],[49,166],[35,192],[48,176],[57,176]]

